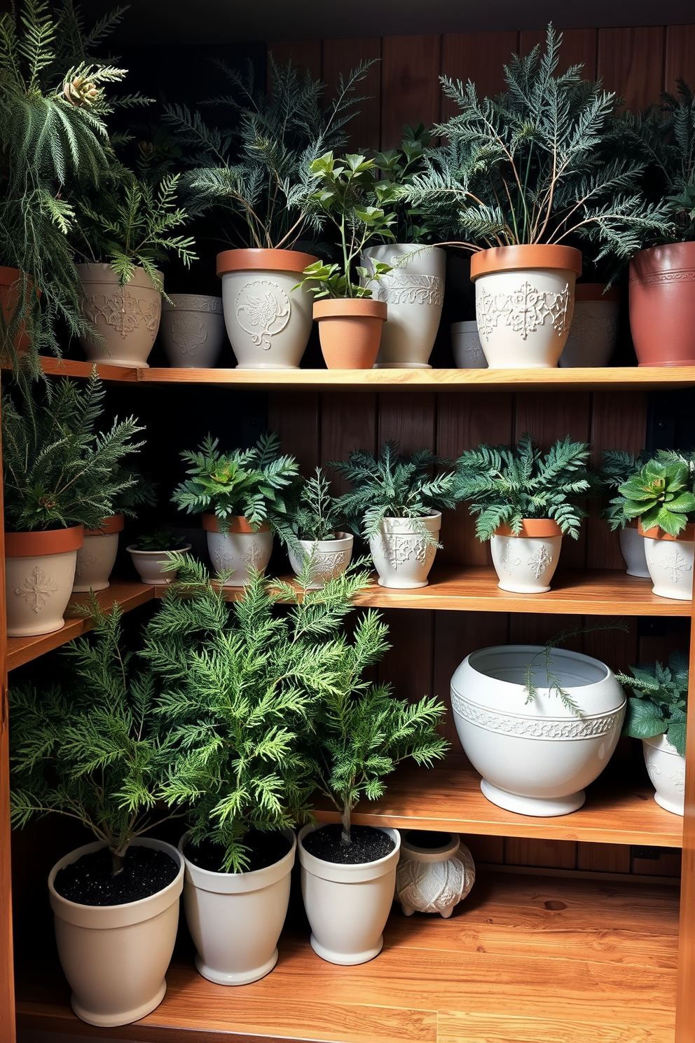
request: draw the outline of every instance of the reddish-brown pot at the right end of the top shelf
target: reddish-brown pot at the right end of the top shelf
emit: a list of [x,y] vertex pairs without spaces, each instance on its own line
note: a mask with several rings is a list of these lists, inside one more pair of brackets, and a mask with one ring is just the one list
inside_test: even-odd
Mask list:
[[629,325],[641,366],[695,366],[695,243],[632,258]]

